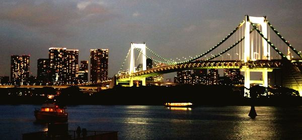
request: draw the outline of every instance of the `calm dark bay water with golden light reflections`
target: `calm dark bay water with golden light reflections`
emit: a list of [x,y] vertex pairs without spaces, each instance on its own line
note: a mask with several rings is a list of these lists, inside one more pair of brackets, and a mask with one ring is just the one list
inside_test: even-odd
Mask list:
[[[35,122],[39,105],[0,105],[0,139],[22,139],[42,131]],[[68,106],[68,128],[119,131],[119,139],[302,139],[302,106],[196,107],[171,110],[164,106]]]

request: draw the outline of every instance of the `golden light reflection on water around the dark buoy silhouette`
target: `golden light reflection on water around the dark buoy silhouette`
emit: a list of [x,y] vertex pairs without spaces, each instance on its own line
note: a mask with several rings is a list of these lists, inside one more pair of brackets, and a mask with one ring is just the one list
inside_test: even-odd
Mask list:
[[227,137],[228,139],[275,139],[278,131],[276,123],[274,107],[255,107],[258,116],[252,119],[247,114],[250,107],[237,107],[236,115],[238,120],[234,123],[233,132]]

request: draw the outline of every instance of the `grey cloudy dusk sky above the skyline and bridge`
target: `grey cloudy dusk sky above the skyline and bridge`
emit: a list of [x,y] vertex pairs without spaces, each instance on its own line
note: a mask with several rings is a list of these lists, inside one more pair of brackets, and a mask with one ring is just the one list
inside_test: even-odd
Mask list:
[[166,58],[194,56],[216,45],[245,15],[262,17],[302,50],[302,1],[14,1],[0,2],[0,76],[10,76],[11,55],[37,59],[49,47],[109,49],[109,77],[117,74],[130,42],[145,42]]

